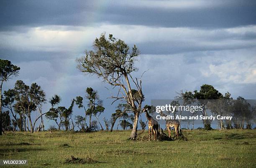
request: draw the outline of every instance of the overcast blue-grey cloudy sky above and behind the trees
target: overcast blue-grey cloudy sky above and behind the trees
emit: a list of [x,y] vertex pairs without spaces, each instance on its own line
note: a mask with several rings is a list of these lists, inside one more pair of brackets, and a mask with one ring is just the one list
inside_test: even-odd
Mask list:
[[[109,118],[117,104],[106,99],[108,85],[84,76],[75,62],[104,32],[138,46],[140,70],[133,75],[148,70],[145,104],[202,84],[256,99],[255,0],[1,0],[0,58],[21,68],[3,88],[18,79],[36,82],[47,99],[58,94],[68,107],[92,87],[104,101],[102,118]],[[82,114],[74,108],[74,116]]]

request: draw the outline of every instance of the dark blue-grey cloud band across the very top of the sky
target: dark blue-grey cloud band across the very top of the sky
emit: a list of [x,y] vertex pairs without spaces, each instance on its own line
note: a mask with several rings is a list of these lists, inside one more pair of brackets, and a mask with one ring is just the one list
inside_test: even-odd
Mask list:
[[[0,30],[13,26],[110,24],[157,27],[237,27],[256,23],[256,1],[216,1],[198,7],[157,6],[158,1],[17,1],[0,5]],[[154,3],[153,3],[154,2]],[[169,3],[172,1],[164,1]],[[182,1],[180,1],[182,2]],[[189,1],[188,1],[189,2]],[[202,1],[207,3],[207,1]],[[214,1],[213,1],[214,2]],[[134,4],[133,4],[134,3]],[[138,3],[138,5],[136,5]],[[152,3],[152,5],[151,5]],[[179,3],[179,2],[177,2]],[[197,3],[197,1],[195,1]],[[145,5],[146,6],[143,6]],[[156,4],[156,6],[155,6]]]

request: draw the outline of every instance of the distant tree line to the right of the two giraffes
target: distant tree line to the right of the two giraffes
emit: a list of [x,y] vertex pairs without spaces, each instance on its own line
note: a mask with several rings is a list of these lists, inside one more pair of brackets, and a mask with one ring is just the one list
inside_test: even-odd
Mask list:
[[[249,104],[246,99],[241,96],[235,100],[231,97],[229,92],[224,95],[221,94],[212,85],[203,84],[200,91],[181,91],[176,99],[184,100],[183,105],[196,103],[197,105],[204,105],[202,111],[196,111],[193,115],[200,113],[202,116],[207,116],[207,110],[210,111],[212,116],[232,116],[230,120],[217,120],[220,129],[244,129],[252,128],[256,116],[256,104]],[[254,102],[255,103],[255,102]],[[178,104],[174,102],[174,104]],[[181,113],[177,111],[176,113]],[[175,113],[174,113],[175,115]],[[212,120],[203,119],[202,123],[206,130],[211,130]],[[194,128],[194,125],[192,129]]]

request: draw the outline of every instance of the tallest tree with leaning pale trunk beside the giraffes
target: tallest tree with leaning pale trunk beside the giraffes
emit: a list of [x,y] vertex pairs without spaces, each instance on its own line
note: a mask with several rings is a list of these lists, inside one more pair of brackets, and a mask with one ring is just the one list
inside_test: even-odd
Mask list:
[[[77,68],[85,74],[95,74],[104,82],[118,87],[118,94],[112,95],[111,98],[115,101],[125,99],[131,106],[135,117],[130,139],[134,140],[137,137],[138,117],[143,101],[141,80],[131,76],[131,73],[137,70],[134,62],[139,56],[138,49],[136,45],[130,49],[128,44],[113,35],[109,35],[107,39],[105,34],[96,38],[93,46],[94,51],[86,51],[84,57],[77,59]],[[136,86],[140,99],[133,96],[131,81]]]

